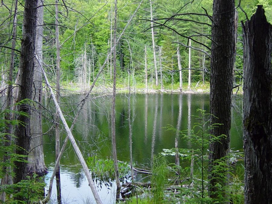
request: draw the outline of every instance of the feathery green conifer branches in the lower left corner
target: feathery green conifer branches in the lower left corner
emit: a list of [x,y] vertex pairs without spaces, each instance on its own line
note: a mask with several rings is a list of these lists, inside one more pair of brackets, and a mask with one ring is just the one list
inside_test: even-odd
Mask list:
[[[30,104],[32,101],[29,99],[22,100],[15,105],[20,104]],[[6,128],[6,125],[8,123],[12,125],[24,125],[18,120],[11,120],[6,121],[4,120],[4,115],[6,113],[15,113],[18,115],[26,115],[25,112],[18,112],[18,111],[11,111],[10,109],[4,109],[0,112],[0,128],[1,131],[4,131]],[[11,138],[14,136],[11,135]],[[11,139],[11,141],[14,141]],[[11,143],[11,145],[6,146],[5,143],[9,143],[10,141],[6,140],[6,134],[1,133],[0,134],[0,177],[3,178],[6,176],[6,173],[8,173],[8,176],[15,176],[13,173],[14,162],[20,161],[20,162],[28,162],[27,160],[24,160],[24,155],[15,154],[14,149],[20,148],[16,146],[15,144]],[[28,177],[28,180],[22,180],[19,183],[12,184],[12,185],[5,185],[1,186],[0,193],[3,191],[6,193],[6,202],[5,203],[33,203],[34,201],[39,200],[40,198],[43,198],[44,196],[44,178],[37,177],[36,175],[33,175],[32,177]],[[10,197],[9,195],[12,195]],[[20,198],[20,200],[17,200],[17,198]]]

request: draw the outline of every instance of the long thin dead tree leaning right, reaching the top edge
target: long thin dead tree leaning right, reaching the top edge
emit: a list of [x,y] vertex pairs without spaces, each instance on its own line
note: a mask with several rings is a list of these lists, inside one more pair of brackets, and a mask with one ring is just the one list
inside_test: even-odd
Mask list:
[[[138,9],[140,8],[140,6],[141,6],[142,3],[143,3],[143,0],[141,0],[141,2],[139,3],[138,7],[137,7],[136,10],[134,11],[134,13],[131,15],[131,18],[128,20],[128,23],[126,24],[125,28],[123,29],[122,33],[120,34],[118,40],[116,40],[116,44],[118,44],[118,42],[120,41],[121,37],[122,37],[123,34],[125,33],[126,29],[128,28],[128,25],[131,23],[132,19],[134,18],[136,12],[138,11]],[[108,61],[108,59],[110,58],[110,56],[112,55],[114,49],[115,49],[115,46],[113,46],[112,49],[110,50],[110,52],[108,53],[108,56],[106,57],[106,59],[105,59],[103,65],[101,66],[99,72],[97,73],[96,78],[94,79],[94,81],[93,81],[93,83],[92,83],[92,85],[91,85],[89,91],[86,93],[85,97],[80,101],[80,103],[79,103],[79,104],[80,104],[80,105],[79,105],[79,106],[80,106],[80,107],[79,107],[79,111],[76,113],[76,116],[75,116],[75,118],[74,118],[74,121],[73,121],[73,123],[72,123],[72,125],[71,125],[71,127],[70,127],[70,131],[73,130],[73,127],[74,127],[74,125],[75,125],[75,123],[76,123],[76,120],[77,120],[77,118],[78,118],[78,116],[79,116],[79,113],[80,113],[81,110],[83,109],[84,104],[86,103],[87,99],[89,98],[90,93],[92,92],[92,89],[94,88],[97,79],[99,78],[100,74],[102,73],[103,69],[105,68],[105,65],[107,64],[107,61]],[[44,73],[44,72],[43,72],[43,73]],[[45,76],[45,73],[44,73],[44,76]],[[68,131],[68,130],[66,130],[66,131]],[[47,203],[47,202],[49,201],[50,197],[51,197],[52,188],[53,188],[53,180],[54,180],[54,177],[55,177],[56,172],[57,172],[57,164],[60,162],[60,158],[61,158],[62,155],[63,155],[63,152],[64,152],[64,150],[65,150],[65,148],[66,148],[67,143],[68,143],[68,140],[69,140],[69,136],[67,135],[66,138],[65,138],[65,140],[64,140],[64,142],[63,142],[63,146],[62,146],[62,148],[61,148],[61,150],[60,150],[60,154],[59,154],[59,156],[58,156],[58,158],[57,158],[57,161],[56,161],[56,164],[55,164],[53,173],[52,173],[51,178],[50,178],[49,190],[48,190],[47,196],[46,196],[43,200],[40,200],[40,203]],[[97,202],[97,203],[101,203],[101,200],[97,198],[97,199],[96,199],[96,202]]]

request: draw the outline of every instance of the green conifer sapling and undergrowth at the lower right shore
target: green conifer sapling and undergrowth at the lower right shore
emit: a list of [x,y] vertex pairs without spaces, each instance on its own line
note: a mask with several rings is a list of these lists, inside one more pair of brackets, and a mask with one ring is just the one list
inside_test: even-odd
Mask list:
[[[235,164],[237,158],[243,158],[243,155],[239,152],[230,153],[226,158],[215,160],[212,173],[219,175],[217,178],[219,183],[230,183],[230,185],[220,186],[217,184],[219,195],[218,199],[211,199],[208,196],[208,164],[209,164],[209,142],[220,141],[225,135],[215,137],[209,134],[209,130],[220,124],[210,125],[209,116],[204,110],[198,110],[199,116],[195,116],[199,119],[199,123],[195,123],[191,131],[180,131],[182,139],[192,144],[193,149],[179,149],[180,158],[183,160],[185,167],[178,167],[180,170],[180,179],[183,180],[182,188],[180,189],[181,195],[179,196],[182,203],[223,203],[232,201],[232,203],[243,202],[243,183],[242,178],[239,176],[243,174],[240,164]],[[169,128],[174,129],[174,128]],[[175,130],[175,129],[174,129]],[[175,149],[164,150],[163,155],[175,155]],[[193,160],[193,175],[190,175],[191,165]],[[188,162],[186,162],[186,160]],[[230,162],[228,162],[230,161]],[[231,163],[228,165],[228,163]],[[222,173],[223,172],[223,173]],[[225,173],[229,175],[226,175]],[[186,179],[188,178],[188,179]],[[220,196],[221,195],[221,196]],[[226,196],[225,196],[226,195]]]

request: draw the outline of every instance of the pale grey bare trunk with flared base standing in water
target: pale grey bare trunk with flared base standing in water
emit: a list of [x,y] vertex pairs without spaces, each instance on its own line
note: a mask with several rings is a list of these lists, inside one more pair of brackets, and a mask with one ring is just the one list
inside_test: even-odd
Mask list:
[[[39,0],[38,5],[42,5]],[[41,105],[42,104],[42,71],[43,63],[43,26],[44,24],[44,7],[37,9],[37,31],[36,31],[36,58],[34,59],[34,73],[33,73],[33,92],[32,100],[34,107],[31,113],[31,152],[28,157],[28,173],[36,173],[42,176],[47,173],[47,167],[44,164],[44,148],[42,136],[42,118]]]

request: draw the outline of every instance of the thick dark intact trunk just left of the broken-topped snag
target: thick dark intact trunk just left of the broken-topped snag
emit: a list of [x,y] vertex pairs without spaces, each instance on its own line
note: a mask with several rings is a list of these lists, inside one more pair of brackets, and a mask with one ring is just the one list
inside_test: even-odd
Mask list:
[[218,198],[218,193],[216,193],[218,188],[215,187],[215,184],[225,185],[225,181],[217,179],[218,174],[212,173],[212,168],[216,165],[215,160],[227,156],[229,152],[232,68],[235,50],[234,6],[234,0],[213,1],[210,78],[210,110],[213,116],[211,124],[222,125],[214,127],[210,130],[210,134],[215,137],[220,135],[225,135],[225,137],[220,141],[211,142],[209,147],[209,195],[212,198]]

